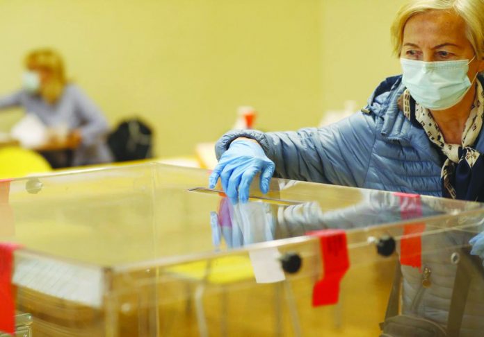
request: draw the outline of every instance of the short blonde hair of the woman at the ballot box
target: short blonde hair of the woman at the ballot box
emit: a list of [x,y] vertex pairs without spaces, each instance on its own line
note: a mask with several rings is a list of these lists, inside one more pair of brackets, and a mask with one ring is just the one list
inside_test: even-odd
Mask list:
[[403,29],[410,17],[428,10],[456,12],[467,26],[466,36],[478,58],[484,55],[484,0],[411,0],[400,8],[392,24],[393,51],[402,50]]

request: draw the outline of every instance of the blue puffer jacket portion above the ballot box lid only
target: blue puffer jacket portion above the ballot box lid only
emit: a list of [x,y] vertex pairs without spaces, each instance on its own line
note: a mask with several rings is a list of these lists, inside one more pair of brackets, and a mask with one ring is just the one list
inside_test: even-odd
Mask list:
[[[387,78],[364,109],[324,128],[228,132],[216,144],[217,157],[232,140],[248,137],[275,162],[279,178],[442,196],[442,158],[426,132],[398,108],[404,90],[401,76]],[[476,150],[484,153],[482,135]]]

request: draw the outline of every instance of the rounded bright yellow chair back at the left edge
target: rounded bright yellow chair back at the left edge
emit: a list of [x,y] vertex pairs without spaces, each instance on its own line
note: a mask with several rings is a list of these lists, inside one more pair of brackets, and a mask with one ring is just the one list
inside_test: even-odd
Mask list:
[[0,148],[0,179],[19,178],[49,171],[52,171],[52,168],[47,160],[33,150],[19,146]]

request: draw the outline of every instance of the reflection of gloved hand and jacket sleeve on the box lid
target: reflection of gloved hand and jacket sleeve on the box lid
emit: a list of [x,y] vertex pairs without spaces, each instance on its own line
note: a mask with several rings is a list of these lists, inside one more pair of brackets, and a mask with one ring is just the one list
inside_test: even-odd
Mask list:
[[[351,230],[411,221],[422,216],[454,214],[479,207],[471,202],[464,204],[440,198],[419,198],[418,202],[415,202],[414,196],[368,190],[362,191],[362,200],[356,205],[329,211],[323,211],[320,202],[316,201],[293,202],[292,205],[287,202],[278,204],[277,200],[263,201],[239,202],[232,205],[228,198],[221,198],[218,211],[211,214],[213,243],[220,245],[220,240],[224,240],[228,248],[239,248],[250,243],[302,236],[314,230]],[[471,232],[476,233],[480,231],[478,223],[482,220],[460,217],[459,223],[449,223],[451,220],[447,220],[440,225],[470,225]],[[464,238],[460,238],[459,241],[462,239]]]

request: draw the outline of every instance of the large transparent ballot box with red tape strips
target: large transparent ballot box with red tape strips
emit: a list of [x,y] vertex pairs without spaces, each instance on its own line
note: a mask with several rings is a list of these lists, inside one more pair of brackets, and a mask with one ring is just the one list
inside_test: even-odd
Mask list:
[[208,177],[151,163],[0,182],[1,330],[484,331],[483,205],[278,179],[232,205]]

